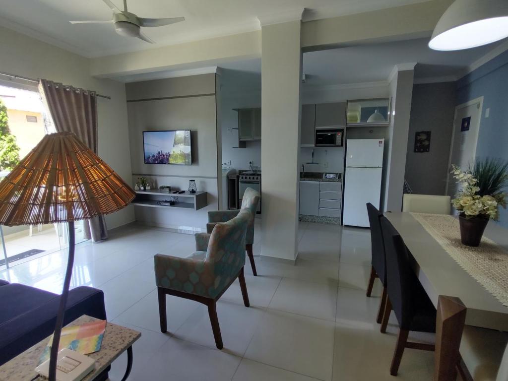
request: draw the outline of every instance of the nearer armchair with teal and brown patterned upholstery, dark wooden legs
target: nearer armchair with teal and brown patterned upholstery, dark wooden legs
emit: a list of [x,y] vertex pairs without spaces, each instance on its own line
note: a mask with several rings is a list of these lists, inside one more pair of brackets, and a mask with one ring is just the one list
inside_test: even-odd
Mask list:
[[216,302],[236,278],[243,304],[249,306],[243,266],[245,234],[251,217],[249,209],[242,209],[233,219],[216,224],[211,234],[197,233],[196,251],[187,258],[154,256],[161,332],[167,331],[166,295],[194,300],[208,307],[215,345],[223,348]]

